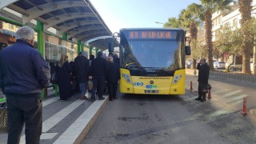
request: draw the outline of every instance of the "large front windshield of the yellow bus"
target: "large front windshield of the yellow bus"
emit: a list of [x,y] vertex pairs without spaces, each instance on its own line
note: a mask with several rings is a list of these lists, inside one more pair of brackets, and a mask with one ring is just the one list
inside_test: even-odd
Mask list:
[[131,41],[128,44],[126,50],[130,54],[124,58],[124,65],[134,62],[134,64],[142,67],[158,67],[170,70],[174,66],[174,53],[178,50],[179,42]]

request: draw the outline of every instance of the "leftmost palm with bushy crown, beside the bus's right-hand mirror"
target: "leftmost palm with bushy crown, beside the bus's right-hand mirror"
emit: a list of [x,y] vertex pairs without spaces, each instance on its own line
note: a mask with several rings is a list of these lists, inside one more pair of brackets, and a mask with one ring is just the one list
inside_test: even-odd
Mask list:
[[[198,7],[195,3],[192,3],[190,6],[187,6],[186,11],[181,16],[183,20],[183,25],[190,29],[191,40],[196,41],[198,38],[198,26],[202,22],[202,9]],[[195,49],[195,47],[192,47]],[[192,56],[194,50],[192,50]],[[193,69],[196,69],[197,60],[193,58]]]

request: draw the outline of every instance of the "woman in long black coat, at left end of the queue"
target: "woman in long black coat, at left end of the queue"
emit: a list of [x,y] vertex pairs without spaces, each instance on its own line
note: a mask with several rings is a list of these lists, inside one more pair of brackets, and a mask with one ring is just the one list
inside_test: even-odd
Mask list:
[[71,75],[72,68],[68,62],[68,56],[62,55],[57,66],[57,81],[60,100],[67,100],[71,97]]

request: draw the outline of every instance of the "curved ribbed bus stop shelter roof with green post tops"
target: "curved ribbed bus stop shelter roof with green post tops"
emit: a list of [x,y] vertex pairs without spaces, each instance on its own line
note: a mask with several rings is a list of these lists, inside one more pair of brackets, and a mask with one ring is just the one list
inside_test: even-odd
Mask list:
[[[14,10],[20,17],[12,14]],[[109,43],[118,46],[98,11],[89,0],[4,0],[0,1],[0,19],[18,26],[31,26],[38,32],[38,50],[44,53],[44,33],[56,30],[55,35],[76,42],[78,52],[87,42],[91,49],[106,50]],[[36,21],[33,23],[33,21]],[[110,38],[97,39],[108,36]]]

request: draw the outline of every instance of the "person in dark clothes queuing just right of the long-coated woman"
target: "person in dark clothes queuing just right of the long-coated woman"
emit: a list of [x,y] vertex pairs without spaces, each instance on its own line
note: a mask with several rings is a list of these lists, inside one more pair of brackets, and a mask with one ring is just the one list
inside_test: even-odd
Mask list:
[[81,99],[86,99],[89,97],[87,86],[88,86],[88,80],[89,80],[90,63],[87,57],[88,57],[87,51],[82,51],[82,53],[78,56],[78,58],[74,62],[75,71],[77,74],[76,77],[79,83]]

